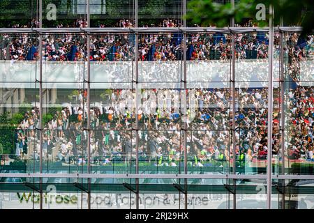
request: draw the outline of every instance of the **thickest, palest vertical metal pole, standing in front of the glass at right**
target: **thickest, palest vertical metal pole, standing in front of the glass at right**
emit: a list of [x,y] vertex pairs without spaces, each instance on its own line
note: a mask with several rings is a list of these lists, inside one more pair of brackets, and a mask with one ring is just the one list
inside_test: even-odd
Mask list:
[[269,48],[268,48],[268,126],[267,126],[267,209],[271,209],[272,132],[273,132],[273,60],[274,60],[274,7],[269,5]]

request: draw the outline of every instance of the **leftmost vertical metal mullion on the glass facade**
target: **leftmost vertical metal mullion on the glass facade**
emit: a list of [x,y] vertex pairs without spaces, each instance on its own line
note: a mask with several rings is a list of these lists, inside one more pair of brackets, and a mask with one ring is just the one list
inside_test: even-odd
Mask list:
[[[43,0],[39,0],[39,28],[43,27]],[[36,103],[35,103],[36,106]],[[39,172],[43,173],[43,36],[39,34]],[[43,209],[43,178],[39,178],[39,208]]]

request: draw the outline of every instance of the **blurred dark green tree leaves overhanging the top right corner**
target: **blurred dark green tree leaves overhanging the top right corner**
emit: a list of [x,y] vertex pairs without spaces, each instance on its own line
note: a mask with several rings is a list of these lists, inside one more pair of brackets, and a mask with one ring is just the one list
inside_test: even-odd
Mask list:
[[[313,31],[312,0],[239,0],[236,1],[233,9],[230,2],[222,4],[215,3],[213,0],[191,0],[188,3],[186,19],[195,24],[222,27],[229,26],[232,17],[235,22],[249,18],[258,26],[265,26],[268,24],[266,21],[255,20],[258,3],[263,3],[267,8],[270,4],[274,6],[274,24],[280,24],[282,17],[285,26],[302,26],[302,34]],[[267,13],[267,18],[269,18],[269,13]]]

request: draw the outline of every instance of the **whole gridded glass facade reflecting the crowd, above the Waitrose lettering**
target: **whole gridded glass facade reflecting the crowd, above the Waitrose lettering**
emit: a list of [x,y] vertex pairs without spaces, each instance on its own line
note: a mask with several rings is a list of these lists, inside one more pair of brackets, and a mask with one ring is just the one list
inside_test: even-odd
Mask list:
[[313,34],[196,29],[184,1],[18,4],[0,12],[0,208],[314,208]]

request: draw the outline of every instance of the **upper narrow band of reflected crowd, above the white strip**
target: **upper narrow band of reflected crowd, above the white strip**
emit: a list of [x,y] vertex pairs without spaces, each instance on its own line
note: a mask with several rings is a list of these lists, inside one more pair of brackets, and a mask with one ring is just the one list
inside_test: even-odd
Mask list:
[[[82,61],[87,60],[86,36],[77,34],[46,35],[43,45],[45,60]],[[179,61],[183,59],[182,34],[142,34],[139,36],[139,59],[141,61]],[[236,59],[267,59],[268,38],[264,33],[237,34],[235,37]],[[298,42],[297,33],[286,36],[284,50],[289,58],[289,72],[297,79],[300,72],[298,61],[311,57],[313,36]],[[132,35],[100,35],[91,38],[91,61],[130,61],[135,45]],[[10,60],[38,59],[38,39],[25,34],[1,36],[1,58]],[[275,35],[274,56],[280,52],[280,38]],[[222,33],[189,34],[187,60],[227,60],[231,58],[231,38]]]

